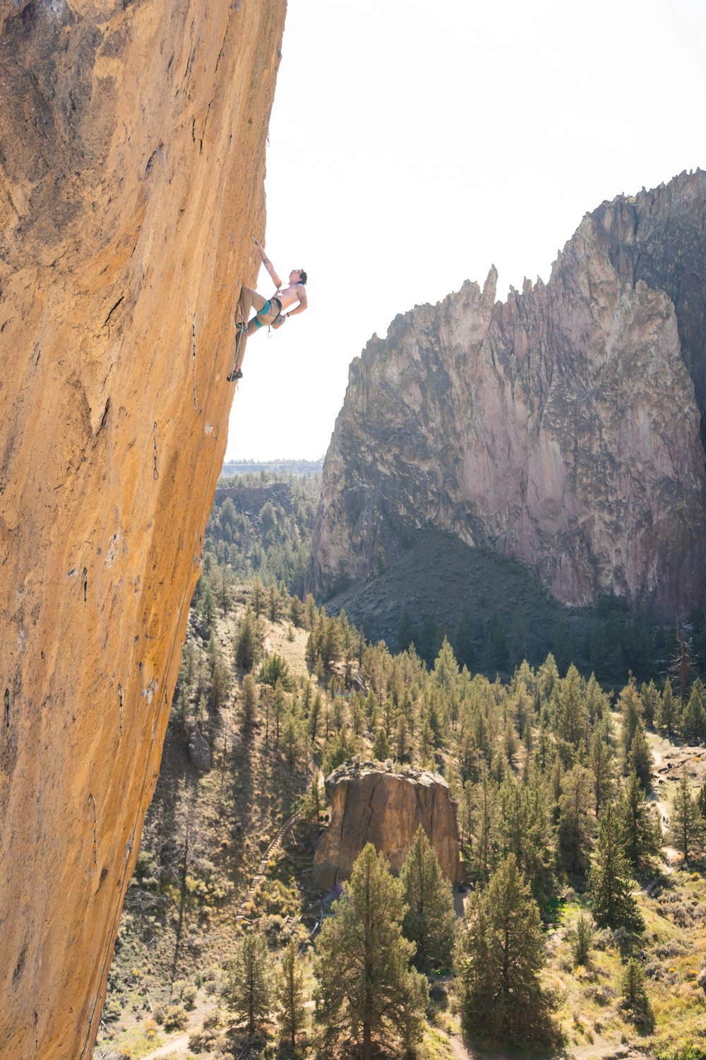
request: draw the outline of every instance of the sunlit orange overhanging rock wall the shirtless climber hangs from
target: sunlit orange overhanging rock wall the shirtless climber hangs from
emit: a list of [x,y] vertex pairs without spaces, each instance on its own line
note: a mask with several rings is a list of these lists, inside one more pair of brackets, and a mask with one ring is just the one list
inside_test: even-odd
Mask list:
[[221,465],[286,0],[0,12],[0,1056],[91,1055]]

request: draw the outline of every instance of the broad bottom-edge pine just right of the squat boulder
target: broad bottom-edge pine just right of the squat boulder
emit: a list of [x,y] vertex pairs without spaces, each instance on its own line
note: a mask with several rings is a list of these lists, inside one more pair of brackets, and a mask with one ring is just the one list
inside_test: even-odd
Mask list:
[[464,1023],[499,1041],[527,1046],[551,1034],[537,904],[513,854],[505,858],[467,911],[456,947]]

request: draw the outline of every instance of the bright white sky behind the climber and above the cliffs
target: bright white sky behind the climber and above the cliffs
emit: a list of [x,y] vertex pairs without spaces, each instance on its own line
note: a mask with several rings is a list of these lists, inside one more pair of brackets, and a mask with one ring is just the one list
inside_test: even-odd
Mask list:
[[289,0],[264,242],[309,310],[250,339],[227,458],[323,456],[398,313],[547,280],[603,199],[706,166],[705,45],[701,0]]

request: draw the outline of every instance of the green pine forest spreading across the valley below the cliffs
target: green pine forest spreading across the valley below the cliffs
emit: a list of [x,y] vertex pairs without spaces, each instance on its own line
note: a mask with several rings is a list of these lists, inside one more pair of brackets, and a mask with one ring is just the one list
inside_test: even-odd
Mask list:
[[[538,666],[522,660],[501,679],[463,665],[446,637],[429,658],[414,644],[394,653],[368,642],[345,613],[329,615],[295,591],[312,509],[306,489],[293,493],[289,513],[263,507],[256,534],[228,500],[212,516],[174,719],[186,731],[234,704],[231,739],[259,742],[294,778],[310,829],[325,809],[320,777],[347,760],[437,771],[458,803],[466,913],[456,916],[422,830],[398,877],[368,846],[311,938],[285,933],[276,914],[247,926],[219,978],[235,1026],[257,1048],[278,1042],[283,1055],[427,1056],[426,1021],[445,976],[471,1039],[547,1047],[562,1032],[558,995],[543,978],[545,932],[568,893],[581,911],[575,964],[590,967],[599,943],[619,949],[611,989],[626,1019],[651,1027],[649,984],[632,956],[649,941],[636,895],[665,886],[665,838],[687,868],[706,850],[706,784],[694,789],[682,772],[666,837],[649,799],[650,740],[706,739],[706,689],[686,641],[669,674],[627,674],[617,689],[571,659],[560,667],[554,654]],[[252,537],[246,583],[229,524]],[[224,648],[218,623],[235,613]],[[305,644],[306,672],[265,650],[273,624]],[[143,893],[161,894],[153,863],[142,866]],[[206,894],[199,888],[195,880],[195,900]],[[276,908],[277,893],[268,901]],[[292,894],[287,901],[296,906]]]

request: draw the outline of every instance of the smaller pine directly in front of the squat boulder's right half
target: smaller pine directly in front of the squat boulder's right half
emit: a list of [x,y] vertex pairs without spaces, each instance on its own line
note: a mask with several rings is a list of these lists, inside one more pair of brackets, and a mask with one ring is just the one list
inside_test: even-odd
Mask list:
[[451,883],[421,825],[400,871],[408,911],[402,921],[406,938],[416,942],[415,966],[423,972],[451,964],[455,914]]

